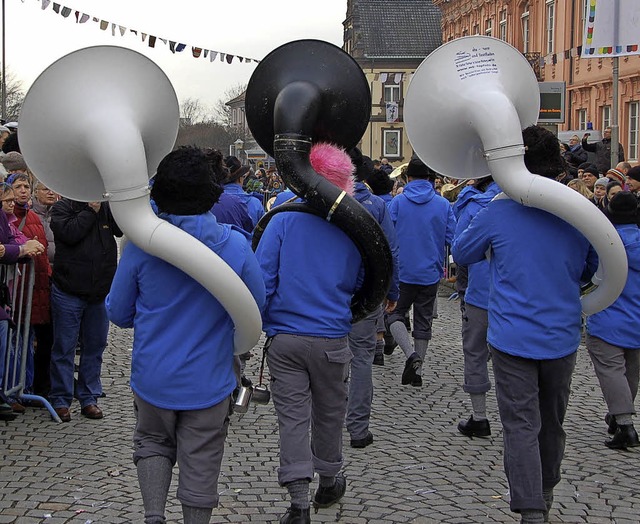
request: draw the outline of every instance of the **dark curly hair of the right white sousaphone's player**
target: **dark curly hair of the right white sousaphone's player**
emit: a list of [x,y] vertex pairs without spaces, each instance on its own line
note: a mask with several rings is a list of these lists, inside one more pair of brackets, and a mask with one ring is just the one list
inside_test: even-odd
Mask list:
[[531,173],[555,178],[567,169],[558,139],[551,131],[540,126],[529,126],[522,131],[522,139],[527,148],[524,165]]

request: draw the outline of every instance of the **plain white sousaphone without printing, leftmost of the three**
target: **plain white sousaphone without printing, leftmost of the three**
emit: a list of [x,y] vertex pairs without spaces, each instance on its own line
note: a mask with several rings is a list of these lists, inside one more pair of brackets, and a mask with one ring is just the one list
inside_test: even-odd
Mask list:
[[48,187],[74,200],[107,200],[129,240],[202,284],[234,322],[235,353],[245,353],[262,329],[253,296],[219,256],[149,203],[149,178],[173,148],[179,116],[173,86],[154,62],[121,47],[89,47],[54,62],[29,89],[20,148]]

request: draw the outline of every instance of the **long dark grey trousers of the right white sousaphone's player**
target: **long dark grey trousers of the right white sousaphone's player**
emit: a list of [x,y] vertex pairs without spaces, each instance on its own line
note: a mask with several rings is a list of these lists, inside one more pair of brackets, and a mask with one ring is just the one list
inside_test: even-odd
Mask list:
[[490,346],[504,429],[504,469],[511,511],[545,511],[543,490],[560,482],[576,353],[552,360],[514,357]]

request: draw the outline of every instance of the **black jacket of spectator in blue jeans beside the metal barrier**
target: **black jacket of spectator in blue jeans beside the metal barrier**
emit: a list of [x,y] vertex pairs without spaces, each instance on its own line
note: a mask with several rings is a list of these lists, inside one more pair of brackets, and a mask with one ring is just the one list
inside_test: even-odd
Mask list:
[[56,244],[53,283],[64,293],[88,302],[100,302],[109,293],[116,272],[122,236],[109,206],[96,213],[89,204],[68,198],[51,208],[51,230]]

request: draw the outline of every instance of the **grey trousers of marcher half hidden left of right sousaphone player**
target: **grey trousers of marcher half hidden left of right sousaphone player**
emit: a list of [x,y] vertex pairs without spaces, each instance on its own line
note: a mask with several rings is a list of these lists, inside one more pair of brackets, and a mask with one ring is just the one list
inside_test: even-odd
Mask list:
[[461,305],[462,352],[464,354],[464,384],[469,394],[486,393],[491,389],[489,381],[489,346],[487,344],[488,313],[471,304]]

